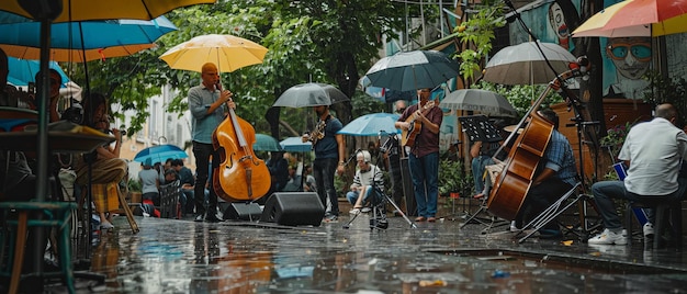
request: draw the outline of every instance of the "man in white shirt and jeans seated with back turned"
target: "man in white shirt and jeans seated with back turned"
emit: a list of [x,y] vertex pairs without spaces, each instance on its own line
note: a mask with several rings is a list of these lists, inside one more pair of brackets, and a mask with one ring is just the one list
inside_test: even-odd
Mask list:
[[[641,196],[667,196],[682,199],[678,191],[680,159],[687,158],[687,135],[674,124],[677,110],[672,104],[661,104],[651,122],[630,128],[618,159],[629,167],[624,181],[602,181],[592,185],[594,202],[604,219],[606,229],[590,238],[589,245],[626,245],[628,236],[622,233],[620,217],[613,199],[637,201]],[[644,235],[653,234],[655,216],[650,210]]]

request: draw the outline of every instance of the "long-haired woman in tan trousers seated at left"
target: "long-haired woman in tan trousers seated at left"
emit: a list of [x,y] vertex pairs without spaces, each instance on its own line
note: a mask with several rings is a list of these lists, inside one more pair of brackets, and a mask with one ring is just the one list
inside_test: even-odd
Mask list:
[[[85,125],[105,133],[112,132],[116,140],[114,147],[111,145],[100,146],[93,152],[83,155],[80,158],[76,168],[76,182],[79,185],[87,185],[90,180],[90,183],[102,184],[98,186],[106,189],[106,186],[112,184],[119,184],[126,177],[126,161],[120,158],[122,133],[116,128],[110,129],[108,109],[108,101],[102,94],[92,93],[85,99]],[[91,166],[91,179],[88,179],[89,165]],[[95,211],[100,214],[100,227],[103,229],[114,227],[112,225],[112,215],[120,207],[119,197],[110,195],[109,192],[99,191],[99,193],[92,193]],[[116,189],[116,193],[121,193],[120,189]]]

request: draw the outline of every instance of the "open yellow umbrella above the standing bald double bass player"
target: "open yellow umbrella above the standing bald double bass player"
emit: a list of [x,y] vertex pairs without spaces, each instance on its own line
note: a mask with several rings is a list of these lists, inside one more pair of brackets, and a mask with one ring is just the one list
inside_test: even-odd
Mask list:
[[213,63],[221,72],[230,72],[245,66],[261,64],[267,48],[252,41],[233,35],[202,35],[181,43],[160,56],[169,67],[201,71],[205,63]]

